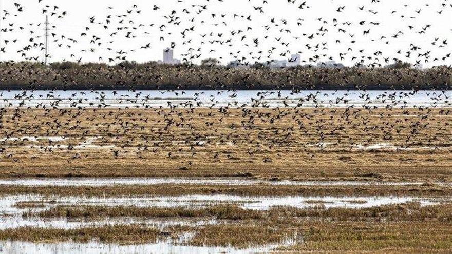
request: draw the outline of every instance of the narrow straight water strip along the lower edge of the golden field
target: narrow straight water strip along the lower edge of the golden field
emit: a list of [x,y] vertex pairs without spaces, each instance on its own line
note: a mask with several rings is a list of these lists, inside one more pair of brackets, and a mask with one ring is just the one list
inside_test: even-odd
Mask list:
[[[0,185],[17,186],[111,186],[111,185],[156,185],[156,184],[212,184],[212,185],[300,185],[300,186],[361,186],[361,185],[421,185],[423,182],[384,182],[384,181],[292,181],[259,180],[246,178],[26,178],[0,179]],[[451,183],[435,182],[437,185]]]

